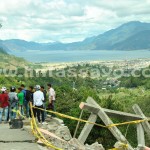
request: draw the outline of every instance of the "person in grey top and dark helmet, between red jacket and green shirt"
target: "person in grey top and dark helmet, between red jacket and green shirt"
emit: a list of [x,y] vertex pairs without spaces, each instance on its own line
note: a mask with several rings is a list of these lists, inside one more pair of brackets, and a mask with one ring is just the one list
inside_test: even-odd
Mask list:
[[8,93],[9,96],[9,120],[16,118],[16,112],[18,110],[18,97],[16,93],[16,88],[14,86],[10,87],[10,92]]

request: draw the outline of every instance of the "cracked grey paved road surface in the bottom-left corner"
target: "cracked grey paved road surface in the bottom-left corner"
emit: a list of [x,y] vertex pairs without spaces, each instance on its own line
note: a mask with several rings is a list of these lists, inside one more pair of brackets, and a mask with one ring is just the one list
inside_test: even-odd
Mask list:
[[21,129],[9,129],[8,124],[0,124],[0,149],[2,150],[40,150],[35,138]]

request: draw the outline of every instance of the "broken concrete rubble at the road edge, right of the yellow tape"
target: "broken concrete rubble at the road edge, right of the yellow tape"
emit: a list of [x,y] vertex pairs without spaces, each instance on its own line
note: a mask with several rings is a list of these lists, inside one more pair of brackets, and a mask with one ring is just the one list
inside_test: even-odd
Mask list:
[[53,135],[49,135],[49,133],[44,134],[46,139],[56,147],[63,150],[104,150],[103,146],[101,144],[98,144],[97,142],[92,145],[81,144],[78,139],[72,138],[68,127],[64,125],[62,120],[58,120],[57,118],[56,120],[55,118],[47,119],[47,122],[49,122],[49,124],[41,126],[41,128],[49,131],[50,134],[54,134],[55,136],[57,136],[56,138]]

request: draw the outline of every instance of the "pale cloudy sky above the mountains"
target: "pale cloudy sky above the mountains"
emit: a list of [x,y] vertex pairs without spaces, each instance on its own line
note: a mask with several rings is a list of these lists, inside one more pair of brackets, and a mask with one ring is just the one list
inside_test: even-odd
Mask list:
[[1,0],[0,39],[75,42],[129,21],[150,22],[150,0]]

